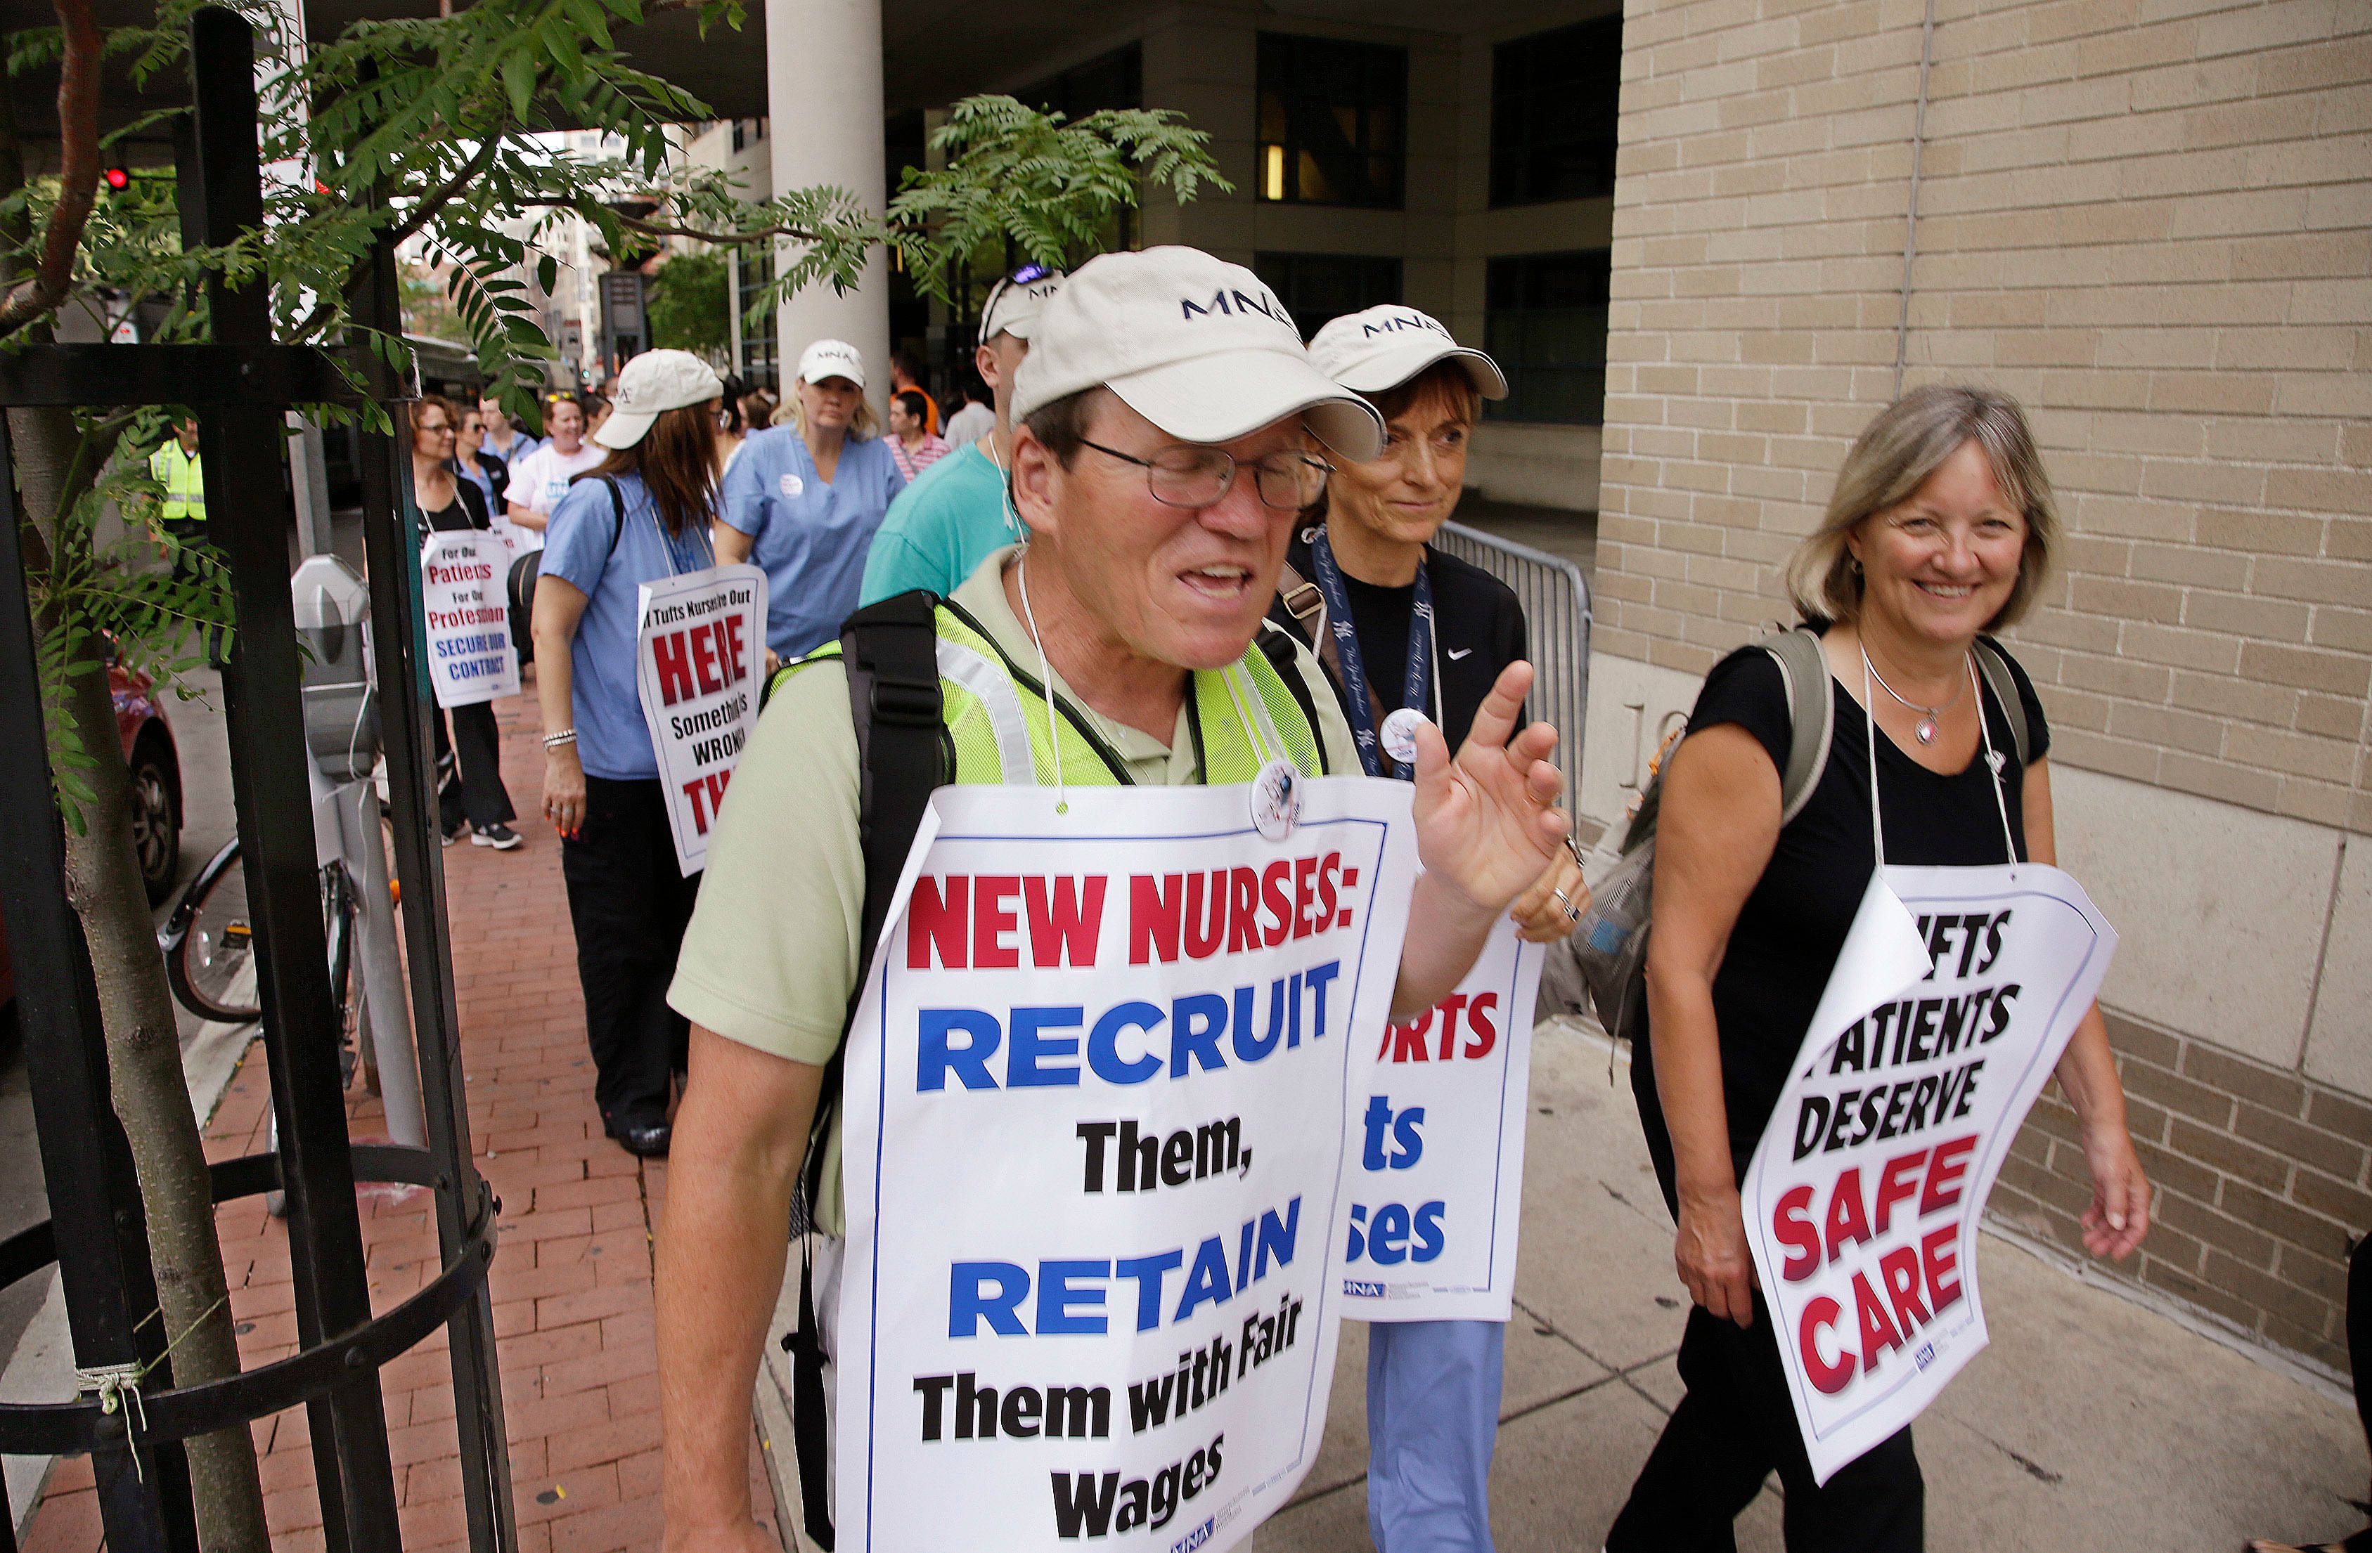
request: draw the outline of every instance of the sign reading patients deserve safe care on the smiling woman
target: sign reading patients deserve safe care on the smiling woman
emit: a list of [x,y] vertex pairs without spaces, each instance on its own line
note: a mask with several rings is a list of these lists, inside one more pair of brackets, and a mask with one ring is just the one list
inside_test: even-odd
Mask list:
[[1872,880],[1741,1188],[1815,1479],[1985,1347],[1978,1216],[2113,953],[2042,863]]

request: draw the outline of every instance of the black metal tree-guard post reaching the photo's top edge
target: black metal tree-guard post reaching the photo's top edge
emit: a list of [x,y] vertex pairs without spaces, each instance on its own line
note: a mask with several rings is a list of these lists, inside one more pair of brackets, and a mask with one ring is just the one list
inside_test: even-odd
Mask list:
[[[228,9],[190,24],[195,102],[197,239],[230,244],[263,228],[256,161],[254,28]],[[206,287],[216,344],[270,344],[270,296]],[[313,844],[313,797],[304,771],[296,621],[287,579],[289,507],[280,484],[280,417],[263,405],[221,405],[199,417],[206,515],[230,562],[237,647],[223,671],[240,851],[256,927],[256,986],[280,1131],[296,1332],[306,1347],[370,1323],[363,1226],[346,1140],[339,1010],[330,993]],[[358,1370],[308,1406],[313,1477],[332,1548],[401,1546],[387,1413],[375,1370]]]

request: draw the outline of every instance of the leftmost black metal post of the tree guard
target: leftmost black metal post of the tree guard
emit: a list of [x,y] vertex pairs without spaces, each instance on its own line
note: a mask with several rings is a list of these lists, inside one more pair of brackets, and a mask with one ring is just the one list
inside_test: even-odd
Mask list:
[[[0,825],[0,908],[40,1124],[40,1167],[50,1183],[57,1276],[76,1363],[157,1363],[164,1359],[161,1323],[142,1325],[157,1309],[147,1221],[107,1086],[90,946],[66,901],[64,837],[55,823],[43,823],[55,799],[17,522],[17,472],[0,420],[0,813],[17,816]],[[168,1375],[152,1370],[152,1385],[168,1385]],[[197,1553],[180,1442],[147,1446],[140,1456],[135,1465],[121,1430],[93,1451],[107,1546]],[[14,1548],[12,1527],[0,1525],[0,1534]]]

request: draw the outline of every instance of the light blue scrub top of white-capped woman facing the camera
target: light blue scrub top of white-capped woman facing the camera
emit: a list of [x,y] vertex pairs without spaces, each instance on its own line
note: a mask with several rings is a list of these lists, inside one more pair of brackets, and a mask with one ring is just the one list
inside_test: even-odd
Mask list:
[[766,571],[766,645],[783,662],[837,638],[856,612],[873,531],[904,488],[887,439],[844,441],[833,484],[816,474],[797,427],[742,443],[719,505],[723,522],[757,541],[750,560]]

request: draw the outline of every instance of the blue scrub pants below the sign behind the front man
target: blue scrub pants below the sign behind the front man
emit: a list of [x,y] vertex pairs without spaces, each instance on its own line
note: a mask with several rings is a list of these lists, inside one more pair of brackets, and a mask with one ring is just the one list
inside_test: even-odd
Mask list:
[[1366,1328],[1366,1529],[1376,1553],[1492,1553],[1504,1321]]

